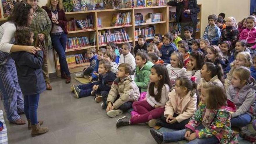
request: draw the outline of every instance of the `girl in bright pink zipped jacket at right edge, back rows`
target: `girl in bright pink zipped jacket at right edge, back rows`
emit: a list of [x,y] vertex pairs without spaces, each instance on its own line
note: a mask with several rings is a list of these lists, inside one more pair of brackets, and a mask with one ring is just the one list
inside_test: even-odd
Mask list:
[[240,33],[239,40],[246,40],[247,45],[251,49],[256,48],[256,17],[255,16],[248,16],[246,18],[246,29],[244,29]]

